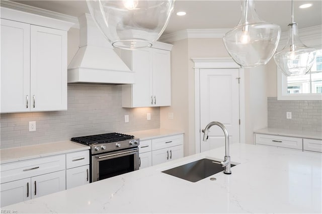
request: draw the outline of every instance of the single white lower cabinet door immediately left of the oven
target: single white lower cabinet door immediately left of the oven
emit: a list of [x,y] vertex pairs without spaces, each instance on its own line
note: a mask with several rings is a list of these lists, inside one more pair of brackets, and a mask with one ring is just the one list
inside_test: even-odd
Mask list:
[[81,186],[90,182],[90,165],[66,170],[66,189]]

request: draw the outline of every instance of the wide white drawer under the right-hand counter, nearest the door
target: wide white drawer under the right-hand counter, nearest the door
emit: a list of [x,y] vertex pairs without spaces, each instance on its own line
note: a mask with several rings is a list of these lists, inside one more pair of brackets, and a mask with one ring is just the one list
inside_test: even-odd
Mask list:
[[283,137],[276,135],[255,135],[256,144],[264,144],[269,146],[278,146],[285,147],[291,149],[301,149],[302,146],[302,138],[291,138],[291,137]]

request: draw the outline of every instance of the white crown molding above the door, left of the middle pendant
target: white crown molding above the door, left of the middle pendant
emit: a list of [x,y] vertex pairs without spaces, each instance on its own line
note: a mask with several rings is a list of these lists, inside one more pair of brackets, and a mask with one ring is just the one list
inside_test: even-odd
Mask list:
[[161,42],[175,42],[192,38],[222,38],[230,29],[186,29],[160,37]]

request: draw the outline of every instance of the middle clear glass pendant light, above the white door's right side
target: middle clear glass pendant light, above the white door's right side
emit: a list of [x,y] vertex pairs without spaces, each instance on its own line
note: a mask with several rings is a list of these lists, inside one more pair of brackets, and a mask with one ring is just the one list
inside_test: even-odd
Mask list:
[[222,39],[237,64],[241,67],[256,67],[266,65],[273,57],[280,35],[280,26],[264,22],[258,17],[254,0],[241,0],[241,19]]

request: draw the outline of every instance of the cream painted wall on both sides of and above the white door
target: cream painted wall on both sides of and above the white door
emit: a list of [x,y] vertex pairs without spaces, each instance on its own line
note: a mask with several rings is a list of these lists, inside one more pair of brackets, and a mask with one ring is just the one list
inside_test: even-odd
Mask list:
[[[229,55],[221,38],[184,39],[172,44],[172,106],[160,108],[160,128],[183,129],[184,155],[187,156],[195,154],[195,80],[191,58]],[[246,143],[254,142],[255,129],[267,126],[267,79],[271,78],[272,82],[274,79],[267,70],[266,67],[245,69]],[[174,113],[173,120],[168,119],[169,112]]]

